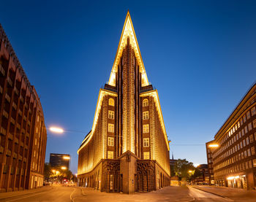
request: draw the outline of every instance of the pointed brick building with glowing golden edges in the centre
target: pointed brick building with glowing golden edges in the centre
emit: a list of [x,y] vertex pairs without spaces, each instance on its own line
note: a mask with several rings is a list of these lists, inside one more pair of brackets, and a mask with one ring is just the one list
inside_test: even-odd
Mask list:
[[79,185],[150,192],[170,184],[169,161],[159,97],[148,82],[128,12],[93,126],[78,149]]

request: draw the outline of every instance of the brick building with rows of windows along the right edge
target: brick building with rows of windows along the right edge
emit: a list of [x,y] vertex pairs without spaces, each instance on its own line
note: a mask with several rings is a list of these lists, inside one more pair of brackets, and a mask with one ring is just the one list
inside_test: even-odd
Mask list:
[[256,187],[255,147],[256,84],[242,98],[214,140],[206,143],[208,168],[213,168],[214,183],[244,189]]

